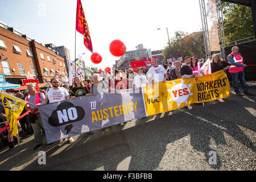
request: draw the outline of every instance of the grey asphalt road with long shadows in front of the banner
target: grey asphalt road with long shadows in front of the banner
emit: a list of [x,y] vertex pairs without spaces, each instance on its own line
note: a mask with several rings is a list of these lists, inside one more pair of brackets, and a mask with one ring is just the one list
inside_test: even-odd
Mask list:
[[[256,84],[248,85],[256,93]],[[232,92],[228,100],[193,104],[36,151],[31,136],[13,151],[0,151],[0,170],[255,171],[255,101]],[[39,151],[46,152],[46,164],[38,164]]]

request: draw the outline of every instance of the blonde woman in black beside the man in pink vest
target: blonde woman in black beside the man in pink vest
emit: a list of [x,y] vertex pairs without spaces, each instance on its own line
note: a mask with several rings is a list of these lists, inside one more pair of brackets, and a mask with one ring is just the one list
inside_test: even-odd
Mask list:
[[222,69],[227,70],[231,64],[226,61],[223,61],[220,55],[214,54],[212,56],[212,60],[210,61],[210,68],[212,69],[212,73],[220,71]]

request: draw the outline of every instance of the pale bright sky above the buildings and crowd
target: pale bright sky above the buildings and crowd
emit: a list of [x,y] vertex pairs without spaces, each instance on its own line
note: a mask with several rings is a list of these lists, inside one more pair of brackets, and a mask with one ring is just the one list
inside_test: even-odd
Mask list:
[[[72,59],[82,53],[88,67],[113,67],[119,57],[109,51],[115,40],[125,43],[126,51],[138,44],[151,51],[168,46],[175,31],[200,31],[199,0],[81,0],[92,39],[93,52],[102,56],[100,64],[90,60],[92,53],[77,32],[77,0],[0,0],[0,21],[42,44],[53,43],[69,49]],[[157,30],[161,28],[160,30]]]

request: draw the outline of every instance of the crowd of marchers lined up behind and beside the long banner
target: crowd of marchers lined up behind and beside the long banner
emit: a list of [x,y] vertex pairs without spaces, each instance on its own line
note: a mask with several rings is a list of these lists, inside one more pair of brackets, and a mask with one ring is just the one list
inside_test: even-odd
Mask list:
[[[239,52],[239,48],[234,46],[232,52],[226,57],[225,61],[220,55],[214,54],[210,60],[210,67],[212,73],[224,70],[229,72],[232,76],[232,85],[234,92],[237,96],[243,96],[238,89],[238,80],[241,83],[243,92],[245,95],[253,96],[254,94],[248,91],[245,83],[245,76],[243,68],[247,67],[243,64],[242,56]],[[63,85],[59,77],[55,76],[49,82],[49,86],[46,90],[37,91],[36,85],[31,83],[27,85],[27,90],[24,92],[17,92],[14,95],[27,101],[28,104],[24,107],[22,112],[31,110],[26,117],[23,117],[18,122],[18,127],[22,128],[22,132],[26,133],[27,137],[34,135],[34,150],[42,147],[43,138],[45,137],[44,127],[42,119],[39,114],[38,106],[41,104],[48,104],[52,102],[64,101],[67,99],[73,99],[76,97],[103,94],[106,92],[116,92],[122,89],[133,89],[142,86],[156,84],[158,82],[165,82],[175,80],[177,78],[193,78],[198,75],[199,69],[204,64],[205,60],[197,59],[193,57],[184,57],[182,61],[170,62],[167,68],[163,65],[159,65],[156,59],[151,59],[150,67],[139,67],[136,72],[133,68],[127,69],[123,72],[118,69],[114,69],[112,75],[107,73],[96,73],[92,79],[86,78],[84,81],[79,76],[74,78],[73,84]],[[10,93],[13,94],[13,93]],[[21,114],[21,115],[22,115]],[[0,128],[7,125],[5,109],[2,102],[0,104]],[[121,124],[123,125],[123,123]],[[103,128],[102,130],[108,130]],[[90,131],[87,135],[92,135]],[[6,135],[6,137],[5,137]],[[1,141],[5,146],[9,146],[10,150],[14,150],[14,144],[17,143],[17,139],[11,135],[10,129],[6,129],[0,134]],[[22,139],[20,140],[22,142]],[[65,142],[72,143],[74,139],[72,137],[60,140],[58,146],[62,146]],[[49,143],[52,144],[52,143]]]

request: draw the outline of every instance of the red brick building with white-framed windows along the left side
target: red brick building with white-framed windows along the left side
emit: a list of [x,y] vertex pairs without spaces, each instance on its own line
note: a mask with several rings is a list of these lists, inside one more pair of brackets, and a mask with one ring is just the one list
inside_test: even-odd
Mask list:
[[[0,56],[0,74],[4,74],[5,80],[13,84],[19,84],[28,72],[39,79],[39,86],[47,84],[56,73],[67,75],[64,57],[2,22]],[[20,89],[26,89],[26,86],[20,86]]]

